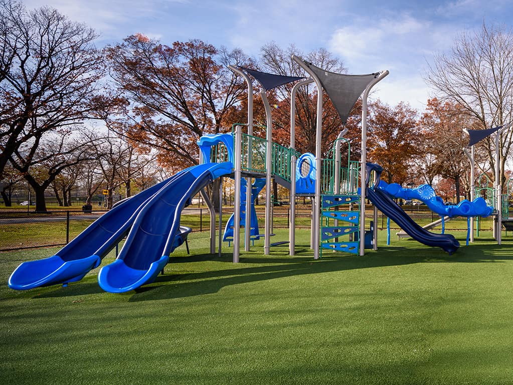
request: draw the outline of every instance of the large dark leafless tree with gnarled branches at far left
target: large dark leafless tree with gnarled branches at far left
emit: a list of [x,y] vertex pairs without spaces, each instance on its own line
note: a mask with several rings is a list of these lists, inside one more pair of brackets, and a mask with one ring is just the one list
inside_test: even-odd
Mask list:
[[[117,102],[96,87],[103,76],[96,37],[54,9],[27,11],[21,3],[0,0],[0,179],[11,161],[38,189],[30,169],[45,136],[59,130],[66,136],[67,127]],[[42,196],[36,193],[36,206]]]

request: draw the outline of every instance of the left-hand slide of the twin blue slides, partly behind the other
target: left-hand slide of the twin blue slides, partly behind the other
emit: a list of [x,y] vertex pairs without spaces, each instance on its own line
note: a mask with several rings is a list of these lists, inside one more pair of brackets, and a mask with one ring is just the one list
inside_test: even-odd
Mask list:
[[9,287],[28,290],[82,279],[128,233],[142,205],[185,171],[115,205],[55,255],[23,262],[9,277]]

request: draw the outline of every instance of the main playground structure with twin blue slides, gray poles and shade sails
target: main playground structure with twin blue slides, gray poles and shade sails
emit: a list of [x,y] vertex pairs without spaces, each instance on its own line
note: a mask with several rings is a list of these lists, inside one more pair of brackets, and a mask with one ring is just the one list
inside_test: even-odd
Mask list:
[[[215,253],[215,212],[203,189],[214,179],[222,177],[232,177],[235,188],[234,213],[228,220],[224,235],[221,232],[221,214],[219,217],[219,253],[223,238],[230,241],[233,244],[234,263],[239,262],[241,229],[244,229],[246,251],[250,250],[254,240],[264,238],[264,254],[270,254],[271,194],[269,190],[266,193],[263,234],[258,229],[254,197],[264,185],[268,188],[271,186],[272,178],[290,191],[290,255],[294,255],[295,244],[295,197],[301,195],[313,199],[311,248],[314,259],[321,257],[323,250],[359,255],[364,255],[365,248],[377,250],[376,227],[371,225],[369,230],[365,228],[366,199],[374,205],[371,223],[377,222],[379,209],[418,241],[441,247],[449,254],[455,252],[459,247],[458,241],[452,235],[430,233],[413,222],[393,201],[389,192],[385,191],[386,187],[379,183],[381,168],[366,161],[367,97],[371,88],[387,76],[388,71],[367,75],[337,74],[304,62],[297,56],[292,56],[292,60],[310,78],[274,75],[229,66],[230,70],[246,80],[248,86],[247,123],[235,124],[232,133],[202,136],[198,141],[198,166],[185,169],[121,202],[56,255],[24,262],[12,273],[9,287],[26,290],[57,283],[67,285],[68,282],[80,280],[91,269],[98,267],[101,260],[125,236],[125,244],[115,261],[100,270],[98,283],[106,291],[121,293],[152,282],[169,262],[170,253],[186,240],[190,229],[180,226],[180,215],[198,192],[202,193],[210,210],[210,252]],[[267,121],[265,139],[253,135],[250,75],[262,86],[260,96]],[[272,117],[266,91],[290,82],[297,83],[291,91],[290,146],[285,147],[272,142]],[[299,87],[311,83],[315,83],[319,90],[315,154],[301,154],[295,150],[295,93]],[[323,89],[344,125],[352,107],[359,97],[362,98],[362,147],[359,162],[351,161],[348,156],[345,163],[341,158],[341,144],[347,142],[343,137],[347,129],[335,140],[331,158],[322,158]],[[243,128],[246,132],[243,132]],[[350,147],[348,152],[350,154]],[[251,186],[249,194],[248,186]],[[483,215],[485,211],[491,210],[488,207],[483,209],[481,203],[479,206]],[[476,213],[476,210],[467,211],[465,215]]]

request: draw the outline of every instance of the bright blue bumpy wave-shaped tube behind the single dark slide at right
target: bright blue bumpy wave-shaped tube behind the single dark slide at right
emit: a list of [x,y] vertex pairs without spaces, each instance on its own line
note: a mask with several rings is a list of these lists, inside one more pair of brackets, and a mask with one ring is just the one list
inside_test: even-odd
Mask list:
[[420,185],[415,189],[404,189],[397,183],[388,185],[385,181],[380,180],[377,188],[396,198],[421,200],[431,211],[450,218],[453,216],[486,217],[494,210],[494,208],[486,205],[486,200],[482,197],[473,201],[463,199],[458,205],[445,205],[443,199],[437,196],[435,190],[429,185]]

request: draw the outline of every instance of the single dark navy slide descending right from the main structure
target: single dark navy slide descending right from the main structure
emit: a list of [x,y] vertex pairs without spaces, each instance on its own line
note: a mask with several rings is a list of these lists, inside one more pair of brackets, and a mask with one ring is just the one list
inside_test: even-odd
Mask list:
[[442,248],[452,254],[460,247],[460,242],[451,234],[431,233],[419,226],[384,191],[366,188],[367,198],[387,217],[396,222],[410,237],[427,246]]

